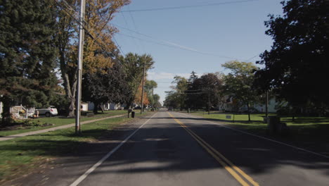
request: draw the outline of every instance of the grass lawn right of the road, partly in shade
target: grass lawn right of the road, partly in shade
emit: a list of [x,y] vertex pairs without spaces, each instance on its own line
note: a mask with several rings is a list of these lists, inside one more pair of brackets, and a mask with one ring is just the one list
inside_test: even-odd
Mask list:
[[[247,114],[235,115],[235,122],[233,123],[233,114],[226,113],[212,113],[202,114],[193,113],[211,120],[224,121],[224,123],[242,128],[247,132],[252,132],[257,135],[267,135],[267,124],[263,123],[264,114],[251,114],[251,122],[248,122]],[[231,116],[231,119],[226,119],[226,116]],[[275,115],[275,114],[271,114]],[[287,137],[277,137],[282,140],[288,140],[295,145],[300,145],[314,151],[321,151],[321,153],[329,155],[329,118],[326,117],[280,117],[281,122],[287,123],[290,128],[290,135]]]

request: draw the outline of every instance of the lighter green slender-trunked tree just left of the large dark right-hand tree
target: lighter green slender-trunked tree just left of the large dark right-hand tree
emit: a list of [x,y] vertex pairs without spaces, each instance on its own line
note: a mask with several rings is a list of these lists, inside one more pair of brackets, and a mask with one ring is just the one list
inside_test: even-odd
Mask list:
[[248,118],[250,120],[250,106],[258,98],[257,91],[252,87],[254,70],[257,67],[252,63],[240,61],[229,61],[221,66],[230,70],[230,73],[224,75],[224,90],[226,94],[233,95],[236,102],[247,106]]

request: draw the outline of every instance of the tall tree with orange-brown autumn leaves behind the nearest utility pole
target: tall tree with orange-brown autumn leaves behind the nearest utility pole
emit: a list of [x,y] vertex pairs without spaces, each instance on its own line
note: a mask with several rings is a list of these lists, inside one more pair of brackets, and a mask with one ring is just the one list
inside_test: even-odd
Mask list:
[[[129,0],[92,0],[86,2],[84,28],[83,73],[96,73],[100,68],[110,68],[117,49],[112,42],[112,35],[117,32],[115,27],[108,25],[115,13]],[[60,1],[58,3],[57,42],[59,51],[58,63],[63,78],[63,86],[67,99],[70,100],[69,116],[74,115],[75,94],[77,87],[77,22],[72,15],[78,9],[76,0]]]

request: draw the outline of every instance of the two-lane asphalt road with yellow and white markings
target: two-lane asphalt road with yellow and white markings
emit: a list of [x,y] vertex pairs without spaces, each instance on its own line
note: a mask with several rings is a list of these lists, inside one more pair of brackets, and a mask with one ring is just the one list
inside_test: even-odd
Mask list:
[[25,185],[329,185],[328,158],[184,113],[117,132]]

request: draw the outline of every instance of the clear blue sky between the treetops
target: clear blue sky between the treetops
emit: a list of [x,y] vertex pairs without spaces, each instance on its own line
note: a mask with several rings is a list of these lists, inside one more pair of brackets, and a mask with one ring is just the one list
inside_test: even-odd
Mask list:
[[[188,77],[192,70],[198,75],[219,72],[222,63],[233,59],[247,61],[256,56],[250,61],[257,61],[273,42],[264,34],[264,20],[269,13],[282,14],[280,1],[132,0],[112,20],[120,30],[115,40],[124,54],[153,56],[155,68],[148,72],[148,79],[157,82],[155,93],[164,101],[164,91],[170,89],[174,75]],[[205,4],[220,5],[201,6]],[[195,5],[198,7],[136,11]]]

